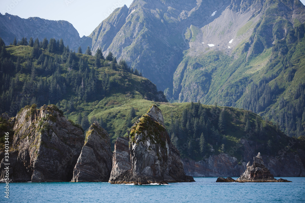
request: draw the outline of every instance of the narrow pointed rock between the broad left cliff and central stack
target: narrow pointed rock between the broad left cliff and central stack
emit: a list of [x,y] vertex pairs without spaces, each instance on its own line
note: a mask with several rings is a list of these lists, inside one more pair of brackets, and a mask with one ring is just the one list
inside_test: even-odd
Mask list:
[[112,167],[110,138],[95,121],[74,167],[72,182],[108,182]]

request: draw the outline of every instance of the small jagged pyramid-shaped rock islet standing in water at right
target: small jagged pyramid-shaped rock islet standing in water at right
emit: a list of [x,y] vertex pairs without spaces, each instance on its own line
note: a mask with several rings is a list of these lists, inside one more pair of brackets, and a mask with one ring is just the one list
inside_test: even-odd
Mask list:
[[258,155],[253,157],[253,164],[250,165],[250,162],[247,164],[247,169],[245,173],[243,173],[237,181],[239,182],[291,182],[288,180],[276,180],[273,175],[270,173],[269,169],[267,169],[264,165],[262,156],[260,152]]

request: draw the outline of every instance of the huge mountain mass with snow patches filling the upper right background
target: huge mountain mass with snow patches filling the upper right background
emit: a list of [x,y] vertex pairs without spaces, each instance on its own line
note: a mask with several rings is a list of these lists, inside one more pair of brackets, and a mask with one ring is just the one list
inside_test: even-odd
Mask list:
[[289,136],[304,135],[305,7],[299,1],[135,0],[89,37],[164,90],[252,110]]

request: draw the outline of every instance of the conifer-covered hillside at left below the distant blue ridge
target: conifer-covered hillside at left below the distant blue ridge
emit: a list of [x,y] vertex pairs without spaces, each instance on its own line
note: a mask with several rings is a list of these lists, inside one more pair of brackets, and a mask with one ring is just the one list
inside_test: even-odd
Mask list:
[[73,119],[87,129],[90,111],[85,108],[106,99],[101,106],[119,102],[110,96],[166,101],[152,82],[124,60],[118,63],[111,53],[104,57],[97,52],[93,57],[89,48],[85,54],[81,48],[75,53],[63,40],[53,38],[13,44],[5,46],[0,40],[1,113],[15,116],[26,105],[56,104],[66,117],[77,112]]

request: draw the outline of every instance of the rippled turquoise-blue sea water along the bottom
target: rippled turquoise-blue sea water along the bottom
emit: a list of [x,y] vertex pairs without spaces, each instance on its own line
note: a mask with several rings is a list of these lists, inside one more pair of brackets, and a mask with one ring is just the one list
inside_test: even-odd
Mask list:
[[195,177],[194,183],[170,185],[10,183],[9,199],[2,183],[0,202],[305,202],[305,177],[282,178],[293,182],[216,183],[215,177]]

